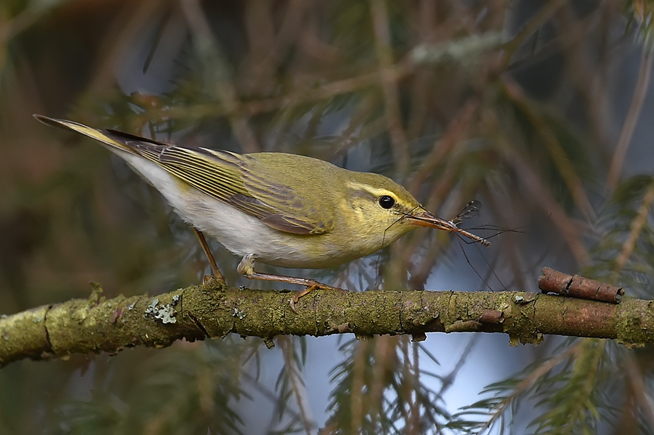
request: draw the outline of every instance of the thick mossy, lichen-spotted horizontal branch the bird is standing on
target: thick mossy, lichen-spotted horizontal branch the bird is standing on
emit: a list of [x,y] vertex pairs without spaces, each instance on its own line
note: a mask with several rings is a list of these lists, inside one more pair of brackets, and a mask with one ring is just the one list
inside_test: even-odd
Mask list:
[[210,279],[170,293],[105,299],[99,285],[88,299],[0,317],[0,367],[20,359],[67,359],[72,354],[225,337],[272,339],[352,332],[412,335],[426,332],[504,332],[512,345],[540,343],[547,334],[617,339],[626,346],[654,343],[654,304],[620,304],[525,292],[315,290],[291,311],[292,293],[224,288]]

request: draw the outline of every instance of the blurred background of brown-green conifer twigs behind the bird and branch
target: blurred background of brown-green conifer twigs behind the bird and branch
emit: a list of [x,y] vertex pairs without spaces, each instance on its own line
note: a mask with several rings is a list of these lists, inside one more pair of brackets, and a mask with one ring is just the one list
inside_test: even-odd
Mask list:
[[[542,266],[651,298],[651,1],[0,2],[0,313],[209,272],[125,163],[32,114],[401,182],[492,237],[416,231],[350,290],[538,291]],[[326,187],[328,189],[328,187]],[[497,231],[509,229],[513,231]],[[235,273],[233,285],[271,288]],[[279,287],[281,288],[281,287]],[[228,337],[0,370],[0,434],[653,433],[654,354],[504,335]]]

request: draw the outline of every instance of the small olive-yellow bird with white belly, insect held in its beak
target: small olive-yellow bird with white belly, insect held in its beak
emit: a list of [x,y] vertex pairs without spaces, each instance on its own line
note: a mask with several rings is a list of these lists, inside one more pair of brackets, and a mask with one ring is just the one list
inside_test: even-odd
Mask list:
[[94,129],[43,115],[34,118],[101,142],[164,195],[190,224],[213,275],[224,283],[203,233],[242,260],[238,272],[315,288],[313,279],[259,273],[255,262],[287,268],[328,268],[379,251],[409,231],[430,226],[489,242],[429,213],[401,185],[377,173],[355,172],[288,153],[238,154],[182,147],[112,129]]

